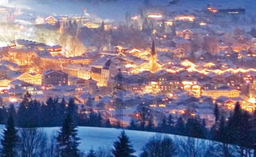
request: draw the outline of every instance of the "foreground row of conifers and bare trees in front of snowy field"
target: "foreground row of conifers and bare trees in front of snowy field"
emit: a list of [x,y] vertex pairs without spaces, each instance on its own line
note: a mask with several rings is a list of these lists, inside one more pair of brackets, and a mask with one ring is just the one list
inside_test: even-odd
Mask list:
[[[135,150],[127,134],[122,131],[113,142],[110,150],[90,150],[83,153],[78,149],[80,144],[78,130],[72,116],[67,112],[59,133],[49,139],[42,129],[15,129],[12,115],[7,120],[4,135],[1,139],[0,156],[2,157],[135,157]],[[86,137],[85,137],[86,138]],[[159,149],[159,147],[161,147]],[[176,155],[176,146],[170,137],[156,135],[148,140],[143,157],[171,157]]]

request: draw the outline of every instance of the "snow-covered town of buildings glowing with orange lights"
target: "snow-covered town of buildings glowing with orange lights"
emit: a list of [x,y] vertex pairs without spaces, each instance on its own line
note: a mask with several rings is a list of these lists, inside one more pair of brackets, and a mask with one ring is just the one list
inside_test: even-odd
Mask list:
[[[81,112],[92,108],[114,123],[114,97],[121,89],[124,125],[135,117],[140,103],[151,108],[156,123],[172,114],[199,116],[210,126],[214,104],[230,112],[240,102],[243,110],[255,112],[256,39],[250,32],[225,31],[214,23],[221,16],[217,12],[240,15],[244,9],[209,6],[203,11],[133,16],[127,26],[151,31],[143,48],[123,43],[66,57],[60,45],[16,39],[0,50],[1,105],[18,104],[26,91],[41,101],[74,97]],[[79,16],[37,18],[35,24],[57,26],[70,19],[83,21],[81,27],[100,26]],[[105,25],[105,31],[109,29],[115,31],[116,26]]]

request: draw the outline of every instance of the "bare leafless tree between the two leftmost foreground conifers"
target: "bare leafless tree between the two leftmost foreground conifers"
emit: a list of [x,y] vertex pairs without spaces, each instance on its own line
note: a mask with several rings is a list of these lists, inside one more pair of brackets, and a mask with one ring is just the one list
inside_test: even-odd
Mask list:
[[20,157],[45,157],[47,152],[47,136],[42,129],[21,129],[19,153]]

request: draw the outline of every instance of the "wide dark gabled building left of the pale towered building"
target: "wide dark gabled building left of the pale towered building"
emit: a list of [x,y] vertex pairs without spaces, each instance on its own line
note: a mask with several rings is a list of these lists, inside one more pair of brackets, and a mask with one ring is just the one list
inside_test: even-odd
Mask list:
[[69,75],[60,70],[47,70],[42,74],[42,87],[48,88],[56,85],[68,85]]

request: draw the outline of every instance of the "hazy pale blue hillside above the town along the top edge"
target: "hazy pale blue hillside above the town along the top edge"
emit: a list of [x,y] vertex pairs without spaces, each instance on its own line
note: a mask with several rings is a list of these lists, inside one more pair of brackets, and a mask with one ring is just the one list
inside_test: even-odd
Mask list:
[[[161,6],[161,8],[169,9],[170,11],[192,11],[194,9],[203,9],[207,4],[223,8],[243,7],[246,12],[252,13],[256,8],[254,0],[180,0],[177,5],[169,5],[168,0],[149,0],[150,4]],[[224,3],[225,2],[225,3]],[[63,15],[63,14],[76,14],[80,15],[83,7],[91,15],[97,15],[102,19],[111,20],[124,20],[126,12],[132,15],[138,14],[138,8],[143,7],[143,0],[116,0],[109,2],[89,3],[86,1],[37,1],[37,0],[13,0],[10,5],[22,7],[37,12],[38,15]]]

